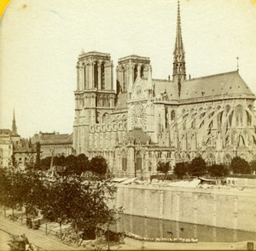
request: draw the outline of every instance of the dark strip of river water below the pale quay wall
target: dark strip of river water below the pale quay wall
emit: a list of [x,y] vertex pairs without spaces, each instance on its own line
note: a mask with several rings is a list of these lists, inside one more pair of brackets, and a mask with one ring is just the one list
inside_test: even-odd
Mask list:
[[256,241],[256,232],[238,231],[208,225],[196,225],[172,220],[159,220],[122,214],[114,231],[129,231],[148,238],[195,238],[198,242]]

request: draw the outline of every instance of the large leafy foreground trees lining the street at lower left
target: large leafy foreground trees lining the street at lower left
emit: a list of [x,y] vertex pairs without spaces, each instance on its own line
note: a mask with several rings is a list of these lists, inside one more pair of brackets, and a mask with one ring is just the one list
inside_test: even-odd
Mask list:
[[96,180],[94,176],[86,180],[69,176],[49,182],[37,171],[0,168],[0,204],[12,208],[14,219],[15,209],[26,208],[26,216],[32,218],[40,209],[45,220],[59,223],[60,231],[64,223],[73,225],[77,241],[79,231],[93,237],[98,227],[113,224],[121,213],[121,208],[108,208],[115,192],[116,187],[108,180]]

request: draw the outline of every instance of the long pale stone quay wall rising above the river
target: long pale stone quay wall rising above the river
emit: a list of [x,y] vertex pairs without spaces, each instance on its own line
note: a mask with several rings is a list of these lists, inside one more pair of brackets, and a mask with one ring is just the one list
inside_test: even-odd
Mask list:
[[117,185],[124,214],[256,232],[256,190]]

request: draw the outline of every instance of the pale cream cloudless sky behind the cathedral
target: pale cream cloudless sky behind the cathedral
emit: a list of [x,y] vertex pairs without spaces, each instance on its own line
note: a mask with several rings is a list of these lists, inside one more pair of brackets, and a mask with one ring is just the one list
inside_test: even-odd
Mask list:
[[[187,75],[236,71],[256,93],[256,3],[181,0]],[[172,76],[177,0],[12,0],[0,21],[0,128],[72,133],[76,62],[84,52],[148,56]]]

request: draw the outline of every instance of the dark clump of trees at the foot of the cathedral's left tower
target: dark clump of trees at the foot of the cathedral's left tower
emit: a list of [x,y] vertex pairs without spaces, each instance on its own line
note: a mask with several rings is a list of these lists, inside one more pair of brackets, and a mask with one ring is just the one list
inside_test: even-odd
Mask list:
[[[51,157],[45,157],[41,159],[38,169],[49,169],[50,163]],[[53,158],[53,165],[62,167],[64,174],[80,175],[86,171],[91,171],[95,174],[106,174],[108,172],[108,163],[104,157],[92,157],[91,160],[89,160],[84,153],[79,154],[78,156],[55,156]]]

